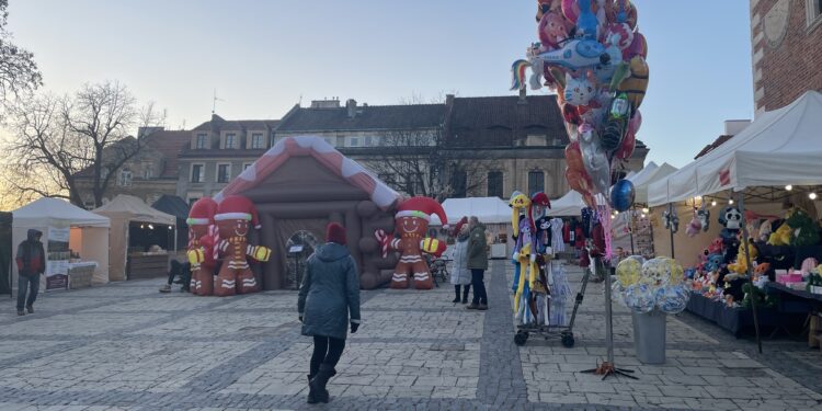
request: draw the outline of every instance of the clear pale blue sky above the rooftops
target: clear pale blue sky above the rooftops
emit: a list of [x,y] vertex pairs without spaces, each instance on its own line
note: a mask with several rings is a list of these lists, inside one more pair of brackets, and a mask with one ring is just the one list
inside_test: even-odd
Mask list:
[[[9,28],[58,93],[116,79],[168,110],[170,128],[278,118],[302,98],[396,104],[511,94],[536,41],[534,0],[11,0]],[[639,138],[681,167],[751,118],[747,0],[635,0],[651,81]],[[545,92],[545,91],[541,91]]]

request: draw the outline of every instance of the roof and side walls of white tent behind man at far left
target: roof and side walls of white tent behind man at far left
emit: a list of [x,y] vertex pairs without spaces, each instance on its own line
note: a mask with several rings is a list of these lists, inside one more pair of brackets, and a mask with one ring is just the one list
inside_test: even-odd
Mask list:
[[[48,228],[71,228],[69,248],[87,261],[98,263],[92,282],[109,282],[109,218],[87,212],[57,198],[39,198],[12,212],[12,241],[21,243],[33,228],[43,232],[41,241],[48,252]],[[16,264],[12,264],[16,274]],[[12,276],[16,278],[16,275]]]

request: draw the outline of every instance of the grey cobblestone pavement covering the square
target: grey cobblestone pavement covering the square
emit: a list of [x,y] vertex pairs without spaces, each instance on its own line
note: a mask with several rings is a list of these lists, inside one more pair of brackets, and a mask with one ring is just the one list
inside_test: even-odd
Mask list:
[[[581,374],[605,355],[602,285],[589,286],[573,347],[534,335],[516,346],[510,264],[490,273],[484,312],[452,304],[450,285],[363,292],[329,406],[305,403],[296,292],[195,297],[128,282],[45,294],[20,318],[7,300],[0,410],[822,410],[819,351],[766,341],[760,355],[689,315],[669,317],[667,362],[646,366],[614,305],[616,363],[639,380]],[[575,292],[581,273],[569,274]]]

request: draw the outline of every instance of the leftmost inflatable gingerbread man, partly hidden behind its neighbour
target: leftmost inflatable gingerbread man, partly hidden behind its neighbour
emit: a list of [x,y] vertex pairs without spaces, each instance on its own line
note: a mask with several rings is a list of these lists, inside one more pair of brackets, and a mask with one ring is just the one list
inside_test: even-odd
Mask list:
[[197,199],[189,212],[189,262],[191,263],[191,292],[209,296],[214,292],[214,215],[217,203],[210,197]]

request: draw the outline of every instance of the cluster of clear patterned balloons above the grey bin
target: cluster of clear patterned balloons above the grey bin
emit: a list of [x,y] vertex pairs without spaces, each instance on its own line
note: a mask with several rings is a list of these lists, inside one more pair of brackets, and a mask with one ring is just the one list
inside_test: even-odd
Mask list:
[[637,312],[654,307],[666,313],[682,312],[690,298],[682,265],[667,256],[644,261],[631,255],[617,264],[616,274],[614,295]]

